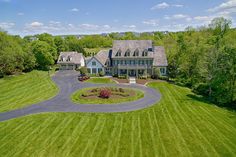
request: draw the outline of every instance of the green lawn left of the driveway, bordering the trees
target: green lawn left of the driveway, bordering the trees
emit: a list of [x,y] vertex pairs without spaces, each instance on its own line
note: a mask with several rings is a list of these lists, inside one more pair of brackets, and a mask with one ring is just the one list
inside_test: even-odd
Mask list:
[[0,79],[0,112],[22,108],[55,96],[58,88],[48,72],[32,71]]

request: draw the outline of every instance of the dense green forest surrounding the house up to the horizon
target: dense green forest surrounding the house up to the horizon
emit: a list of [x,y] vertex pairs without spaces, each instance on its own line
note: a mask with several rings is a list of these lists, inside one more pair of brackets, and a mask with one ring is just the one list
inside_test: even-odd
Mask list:
[[0,75],[47,70],[61,51],[88,56],[83,48],[110,48],[113,40],[148,39],[165,47],[169,80],[214,103],[236,107],[236,29],[230,27],[230,20],[215,18],[209,26],[187,27],[183,32],[110,33],[81,39],[47,33],[21,38],[0,31]]

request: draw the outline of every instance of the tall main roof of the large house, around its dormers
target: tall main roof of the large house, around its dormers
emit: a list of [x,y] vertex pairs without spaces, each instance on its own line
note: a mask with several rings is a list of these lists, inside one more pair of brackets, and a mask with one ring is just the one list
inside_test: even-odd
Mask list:
[[[112,58],[113,57],[126,57],[126,51],[130,50],[130,57],[134,55],[134,51],[139,51],[139,56],[137,57],[144,57],[142,56],[142,52],[145,50],[152,49],[152,41],[151,40],[114,40],[113,47],[112,47]],[[121,56],[117,56],[117,52],[121,51]],[[152,51],[148,51],[148,56],[145,57],[152,57]]]

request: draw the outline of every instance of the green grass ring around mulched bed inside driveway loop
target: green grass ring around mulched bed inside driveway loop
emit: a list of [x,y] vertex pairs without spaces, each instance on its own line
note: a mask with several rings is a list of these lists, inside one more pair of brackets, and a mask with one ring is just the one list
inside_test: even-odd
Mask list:
[[144,93],[141,90],[131,89],[131,88],[123,88],[123,89],[125,90],[125,93],[134,92],[135,94],[132,96],[123,97],[123,98],[112,98],[111,97],[109,99],[104,99],[104,98],[97,97],[97,98],[88,99],[88,98],[82,96],[83,93],[86,93],[87,91],[89,91],[91,89],[94,89],[94,88],[84,88],[84,89],[74,92],[71,95],[71,100],[74,103],[80,103],[80,104],[115,104],[115,103],[135,101],[135,100],[138,100],[138,99],[141,99],[144,97]]

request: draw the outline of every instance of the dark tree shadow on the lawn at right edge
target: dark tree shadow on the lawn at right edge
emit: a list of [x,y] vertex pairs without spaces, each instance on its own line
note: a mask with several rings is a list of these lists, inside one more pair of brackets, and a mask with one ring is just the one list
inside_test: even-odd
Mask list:
[[200,101],[200,102],[209,104],[209,105],[218,106],[218,107],[227,109],[229,111],[236,112],[236,105],[235,104],[228,104],[228,105],[215,104],[215,103],[211,102],[208,98],[206,98],[204,96],[200,96],[200,95],[195,95],[195,94],[187,94],[187,97],[189,97],[193,100],[196,100],[196,101]]

